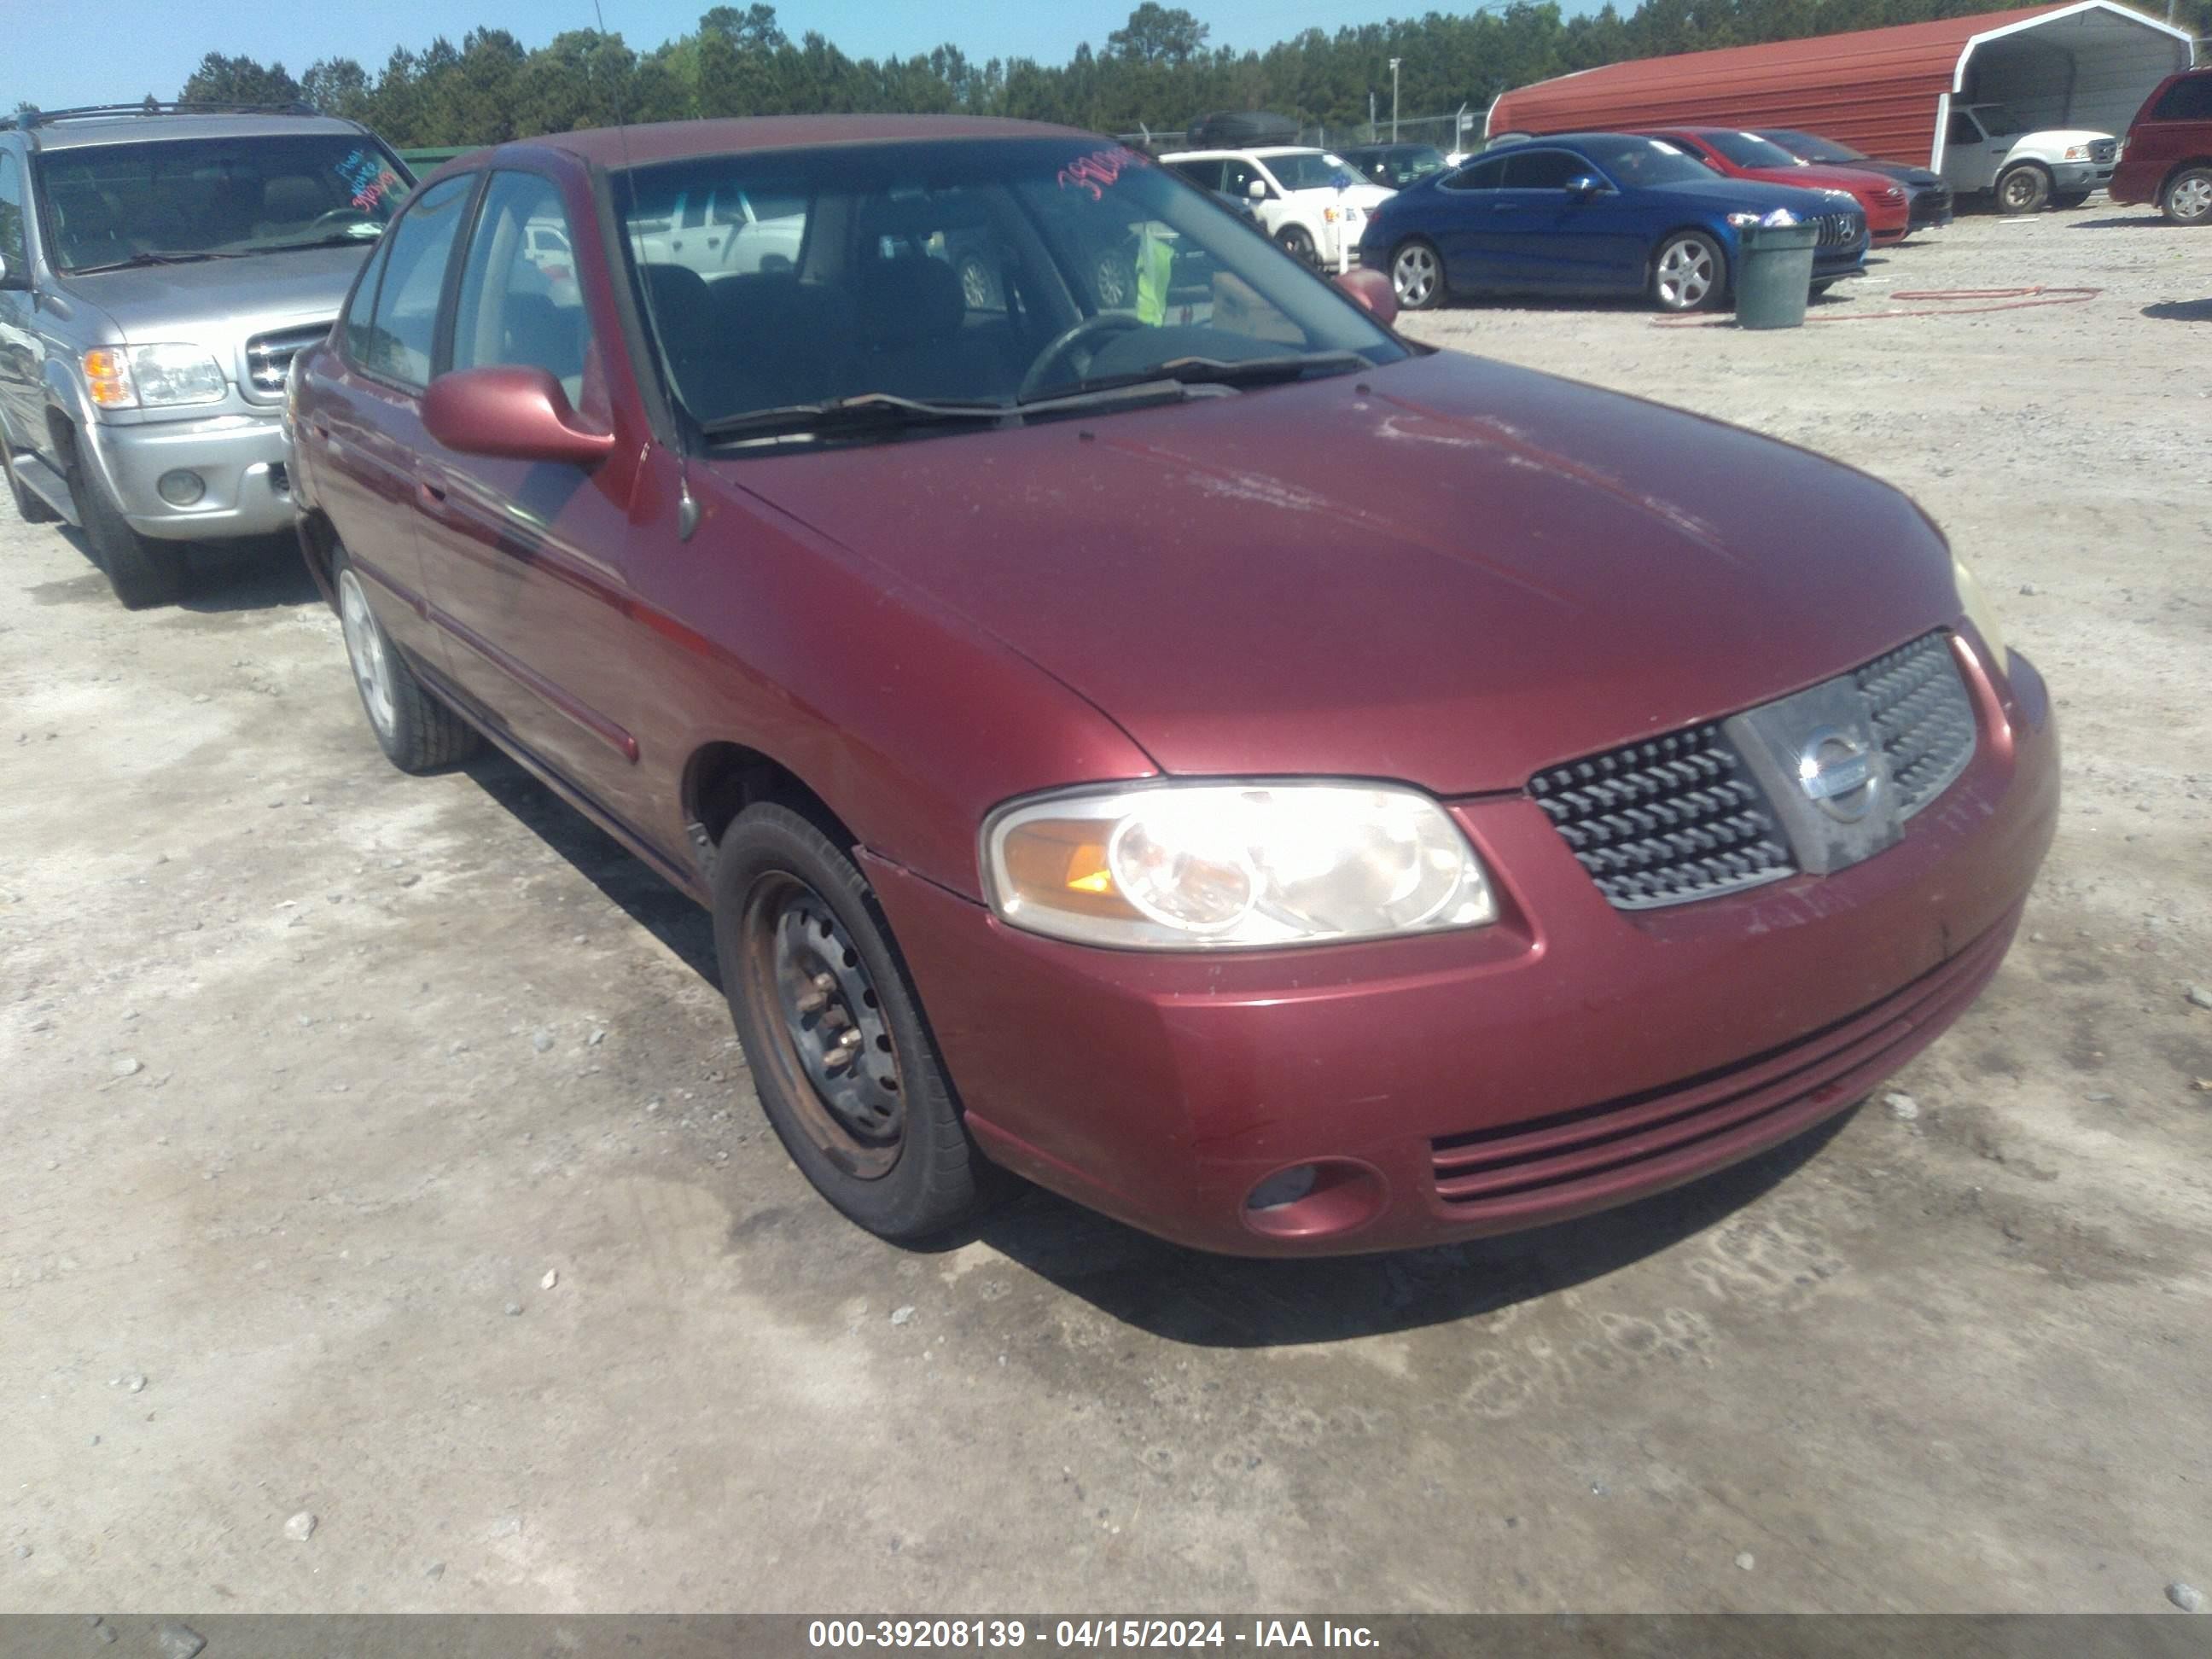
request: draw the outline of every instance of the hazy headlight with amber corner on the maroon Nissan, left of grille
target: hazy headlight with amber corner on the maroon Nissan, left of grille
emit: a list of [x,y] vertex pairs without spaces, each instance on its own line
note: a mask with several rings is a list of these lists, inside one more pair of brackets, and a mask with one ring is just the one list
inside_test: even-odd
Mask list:
[[1128,949],[1256,949],[1482,927],[1467,836],[1413,790],[1137,783],[1002,807],[984,887],[1015,927]]

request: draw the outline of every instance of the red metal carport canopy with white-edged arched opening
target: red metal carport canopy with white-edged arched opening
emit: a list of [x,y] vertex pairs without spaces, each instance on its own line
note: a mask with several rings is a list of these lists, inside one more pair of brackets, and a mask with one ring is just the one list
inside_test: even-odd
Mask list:
[[2075,0],[1584,69],[1502,93],[1484,133],[1794,126],[1885,161],[1940,166],[1953,97],[2008,104],[2028,126],[2126,135],[2192,51],[2183,29]]

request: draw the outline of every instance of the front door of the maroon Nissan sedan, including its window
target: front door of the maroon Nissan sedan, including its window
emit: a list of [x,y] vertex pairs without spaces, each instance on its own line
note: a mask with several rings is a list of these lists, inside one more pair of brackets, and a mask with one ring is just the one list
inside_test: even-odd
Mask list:
[[[613,407],[582,283],[553,285],[531,241],[588,250],[562,186],[498,170],[484,186],[451,299],[440,369],[524,365],[560,380],[586,425]],[[628,467],[465,456],[425,436],[418,458],[425,573],[453,681],[533,759],[635,827],[637,728],[648,690],[624,644],[635,611],[624,549]],[[635,832],[635,830],[633,830]]]

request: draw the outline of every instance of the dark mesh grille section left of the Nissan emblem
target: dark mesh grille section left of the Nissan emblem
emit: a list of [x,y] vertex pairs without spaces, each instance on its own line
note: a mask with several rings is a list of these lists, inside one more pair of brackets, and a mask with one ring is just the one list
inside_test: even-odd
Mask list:
[[1528,779],[1528,794],[1619,909],[1683,905],[1796,869],[1719,726],[1557,765]]

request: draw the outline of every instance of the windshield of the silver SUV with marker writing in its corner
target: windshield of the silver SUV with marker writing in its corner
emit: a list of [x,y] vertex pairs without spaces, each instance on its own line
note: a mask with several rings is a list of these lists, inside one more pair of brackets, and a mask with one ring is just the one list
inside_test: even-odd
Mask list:
[[38,170],[66,272],[374,241],[407,195],[385,146],[343,133],[102,144]]

